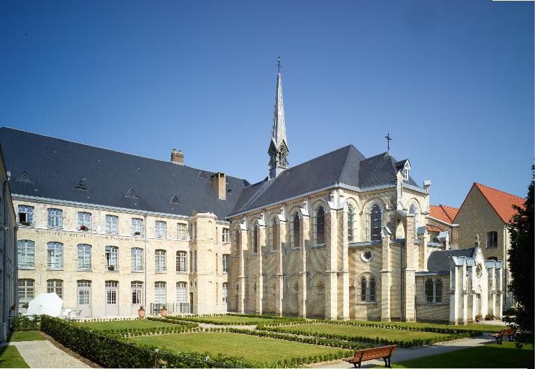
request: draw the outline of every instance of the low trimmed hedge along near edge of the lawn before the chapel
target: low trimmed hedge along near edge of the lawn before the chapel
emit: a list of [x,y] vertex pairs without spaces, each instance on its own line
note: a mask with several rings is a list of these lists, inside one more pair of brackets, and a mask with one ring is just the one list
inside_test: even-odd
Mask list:
[[298,335],[309,336],[309,337],[329,338],[329,339],[342,340],[342,341],[348,341],[348,342],[365,342],[365,343],[371,343],[374,345],[398,345],[400,347],[431,345],[433,343],[445,342],[449,340],[458,340],[460,338],[469,338],[469,337],[474,336],[470,332],[464,332],[464,333],[451,333],[451,334],[448,334],[447,336],[435,337],[435,338],[412,338],[409,340],[392,340],[389,338],[379,338],[379,337],[373,338],[373,337],[366,337],[366,336],[343,335],[343,334],[334,334],[334,333],[325,333],[325,332],[309,332],[309,331],[304,331],[300,329],[296,329],[294,331],[286,331],[284,327],[264,326],[259,329],[263,329],[263,331],[271,331],[271,332],[286,333],[286,334],[288,333],[298,334]]

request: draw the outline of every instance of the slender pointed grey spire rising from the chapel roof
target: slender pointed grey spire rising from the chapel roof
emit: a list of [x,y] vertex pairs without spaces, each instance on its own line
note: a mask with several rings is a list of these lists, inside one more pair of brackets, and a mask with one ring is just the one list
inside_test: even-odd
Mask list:
[[277,73],[277,88],[275,93],[275,107],[271,126],[271,142],[267,153],[270,155],[270,180],[276,178],[288,168],[288,144],[286,143],[286,121],[284,120],[284,101],[282,100],[281,57],[279,56],[279,72]]

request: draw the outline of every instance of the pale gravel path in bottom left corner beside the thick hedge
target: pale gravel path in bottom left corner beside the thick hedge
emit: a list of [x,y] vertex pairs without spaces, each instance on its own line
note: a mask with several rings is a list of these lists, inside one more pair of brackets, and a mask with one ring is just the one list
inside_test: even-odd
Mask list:
[[47,340],[10,342],[30,368],[91,368]]

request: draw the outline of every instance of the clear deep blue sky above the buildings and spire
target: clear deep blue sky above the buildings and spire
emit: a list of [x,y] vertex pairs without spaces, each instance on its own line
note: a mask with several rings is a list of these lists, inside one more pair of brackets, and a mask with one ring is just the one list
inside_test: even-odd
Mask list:
[[533,19],[511,1],[2,1],[0,125],[256,182],[282,56],[290,165],[389,133],[431,203],[472,182],[525,196]]

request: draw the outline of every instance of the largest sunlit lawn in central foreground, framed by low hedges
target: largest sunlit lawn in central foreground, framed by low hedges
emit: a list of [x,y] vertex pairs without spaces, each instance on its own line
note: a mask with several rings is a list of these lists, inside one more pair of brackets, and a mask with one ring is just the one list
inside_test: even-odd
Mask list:
[[[311,356],[343,351],[337,347],[276,340],[240,333],[205,332],[165,334],[130,338],[132,341],[166,347],[174,352],[209,351],[228,356],[243,356],[255,363],[270,363],[296,356]],[[348,355],[350,356],[350,354]]]

